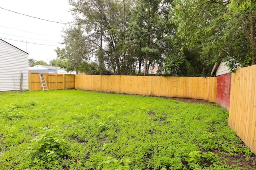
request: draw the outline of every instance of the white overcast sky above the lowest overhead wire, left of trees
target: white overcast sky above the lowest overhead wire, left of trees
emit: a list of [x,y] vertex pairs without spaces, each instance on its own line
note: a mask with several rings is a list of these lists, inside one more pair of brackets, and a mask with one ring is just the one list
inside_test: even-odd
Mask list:
[[[71,12],[68,12],[72,8],[68,0],[2,0],[0,7],[45,20],[62,23],[73,21]],[[1,39],[29,53],[29,59],[47,63],[56,59],[54,49],[63,48],[60,42],[62,30],[67,27],[65,24],[30,18],[1,8]]]

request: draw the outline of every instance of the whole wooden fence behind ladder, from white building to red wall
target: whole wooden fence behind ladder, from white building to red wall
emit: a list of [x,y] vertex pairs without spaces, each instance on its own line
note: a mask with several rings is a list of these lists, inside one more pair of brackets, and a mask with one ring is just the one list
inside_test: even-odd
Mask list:
[[[217,78],[48,74],[50,90],[82,89],[127,94],[195,98],[216,102]],[[29,90],[42,90],[39,73],[29,73]]]

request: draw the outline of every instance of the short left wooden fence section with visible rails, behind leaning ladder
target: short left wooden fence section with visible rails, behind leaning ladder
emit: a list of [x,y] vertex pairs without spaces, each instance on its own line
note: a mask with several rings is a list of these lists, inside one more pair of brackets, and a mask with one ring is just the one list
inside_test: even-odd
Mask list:
[[[74,89],[74,74],[50,74],[44,73],[44,78],[50,90]],[[42,90],[39,73],[29,72],[28,74],[29,91]]]

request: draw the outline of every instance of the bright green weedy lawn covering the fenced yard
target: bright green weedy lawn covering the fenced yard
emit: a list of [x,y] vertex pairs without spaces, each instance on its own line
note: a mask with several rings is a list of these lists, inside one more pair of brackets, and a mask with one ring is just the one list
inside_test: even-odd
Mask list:
[[0,169],[253,169],[227,123],[213,104],[81,90],[0,94]]

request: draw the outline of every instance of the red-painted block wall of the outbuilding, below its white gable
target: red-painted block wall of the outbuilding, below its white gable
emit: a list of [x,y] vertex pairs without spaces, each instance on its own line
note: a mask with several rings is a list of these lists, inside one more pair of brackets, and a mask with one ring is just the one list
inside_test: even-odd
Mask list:
[[216,102],[229,111],[231,90],[231,75],[222,74],[217,76],[217,98]]

